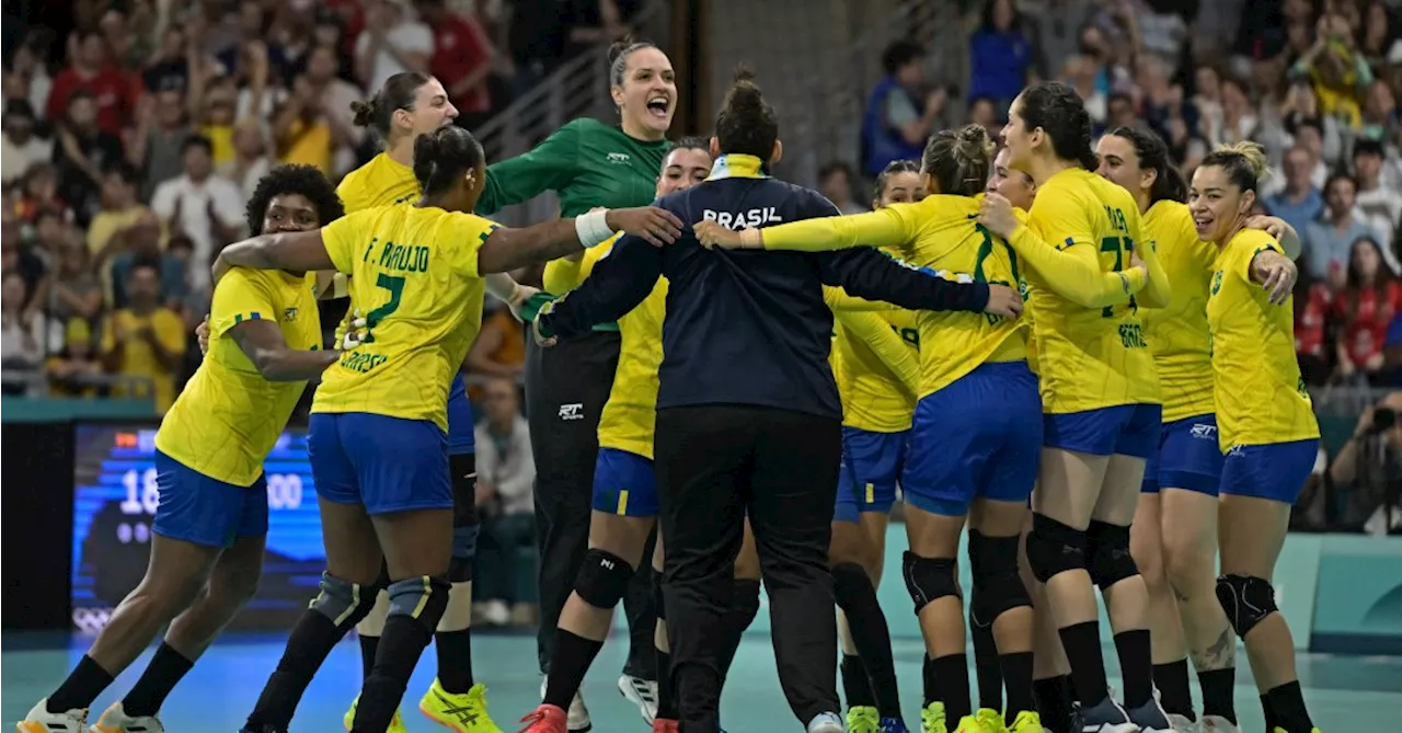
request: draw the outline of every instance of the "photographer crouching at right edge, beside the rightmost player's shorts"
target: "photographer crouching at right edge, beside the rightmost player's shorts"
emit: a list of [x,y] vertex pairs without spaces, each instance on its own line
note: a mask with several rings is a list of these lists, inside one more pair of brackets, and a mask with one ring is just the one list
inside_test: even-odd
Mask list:
[[1329,479],[1343,489],[1340,524],[1368,534],[1402,531],[1402,392],[1392,392],[1364,411],[1353,436],[1329,467]]

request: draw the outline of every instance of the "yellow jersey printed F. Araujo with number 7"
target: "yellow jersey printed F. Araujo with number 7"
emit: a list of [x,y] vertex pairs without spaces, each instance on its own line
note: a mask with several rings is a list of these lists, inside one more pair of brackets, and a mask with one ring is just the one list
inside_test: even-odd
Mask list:
[[482,325],[477,252],[494,228],[421,206],[366,209],[321,228],[366,335],[322,374],[313,412],[433,420],[447,432],[449,383]]

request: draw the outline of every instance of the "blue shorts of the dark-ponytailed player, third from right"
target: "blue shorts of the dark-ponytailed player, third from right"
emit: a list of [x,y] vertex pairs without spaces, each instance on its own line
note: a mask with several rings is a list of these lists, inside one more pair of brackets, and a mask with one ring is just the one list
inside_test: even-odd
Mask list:
[[1115,405],[1047,415],[1043,418],[1046,447],[1148,458],[1158,447],[1162,415],[1162,405]]

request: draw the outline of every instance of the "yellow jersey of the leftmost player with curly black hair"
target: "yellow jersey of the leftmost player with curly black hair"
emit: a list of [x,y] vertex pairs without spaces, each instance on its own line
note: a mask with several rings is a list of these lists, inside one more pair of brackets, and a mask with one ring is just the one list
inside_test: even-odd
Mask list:
[[209,353],[156,433],[156,447],[195,471],[250,486],[287,427],[306,381],[268,381],[230,334],[245,321],[272,321],[287,346],[321,348],[314,276],[234,268],[215,287]]

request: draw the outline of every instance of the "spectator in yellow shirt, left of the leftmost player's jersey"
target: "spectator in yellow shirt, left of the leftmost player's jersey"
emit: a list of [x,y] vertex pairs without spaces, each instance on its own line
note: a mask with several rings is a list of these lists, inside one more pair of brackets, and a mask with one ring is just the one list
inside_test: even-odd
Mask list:
[[[150,395],[164,415],[175,401],[175,371],[185,356],[185,321],[160,304],[160,266],[143,259],[126,279],[128,307],[107,320],[102,363],[126,377],[112,388],[118,397]],[[150,391],[139,381],[149,381]]]

